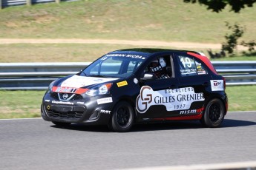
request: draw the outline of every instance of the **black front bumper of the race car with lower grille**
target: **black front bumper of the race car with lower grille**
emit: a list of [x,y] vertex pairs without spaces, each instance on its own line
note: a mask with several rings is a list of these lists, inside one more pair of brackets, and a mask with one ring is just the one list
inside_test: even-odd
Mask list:
[[108,124],[111,118],[111,103],[97,103],[97,99],[110,98],[110,96],[97,96],[82,98],[73,101],[60,101],[46,93],[41,105],[41,115],[44,120],[86,123],[93,125]]

